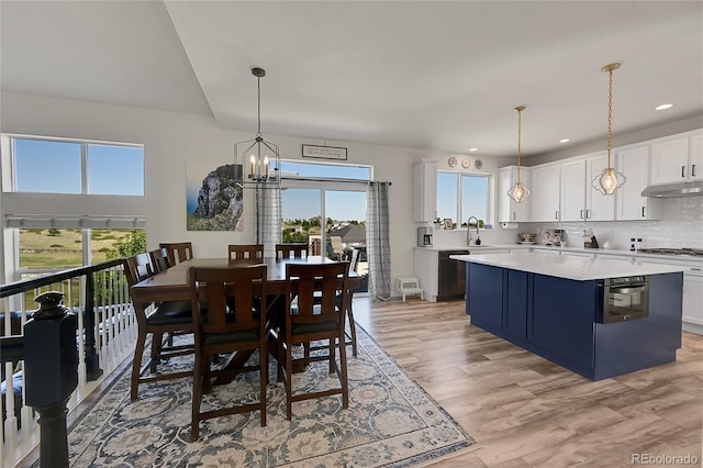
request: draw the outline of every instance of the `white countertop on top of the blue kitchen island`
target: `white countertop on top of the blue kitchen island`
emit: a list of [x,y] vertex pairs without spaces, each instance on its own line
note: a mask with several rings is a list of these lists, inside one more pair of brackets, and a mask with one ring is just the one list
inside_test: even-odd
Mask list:
[[622,260],[604,257],[584,257],[559,252],[514,252],[511,254],[451,255],[455,260],[492,267],[509,268],[538,275],[588,281],[636,275],[660,275],[688,271],[683,266]]

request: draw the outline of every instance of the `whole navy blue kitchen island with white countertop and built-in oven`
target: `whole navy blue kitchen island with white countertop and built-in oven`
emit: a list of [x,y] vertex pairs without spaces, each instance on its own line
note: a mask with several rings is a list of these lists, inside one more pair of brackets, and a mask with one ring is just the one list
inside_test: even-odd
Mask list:
[[[557,253],[451,258],[467,263],[472,325],[583,377],[601,380],[676,360],[685,267]],[[627,278],[647,286],[636,296],[634,288],[614,292],[611,283]],[[628,308],[641,311],[610,314]]]

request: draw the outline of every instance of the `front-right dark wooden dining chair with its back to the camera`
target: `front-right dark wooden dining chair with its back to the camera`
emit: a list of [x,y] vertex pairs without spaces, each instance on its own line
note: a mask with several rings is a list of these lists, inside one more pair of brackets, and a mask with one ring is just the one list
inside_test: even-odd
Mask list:
[[[292,403],[342,394],[343,408],[349,405],[346,346],[344,345],[345,307],[348,302],[346,263],[286,265],[286,317],[274,331],[278,338],[279,380],[286,387],[286,417],[291,419]],[[317,298],[316,298],[317,296]],[[338,298],[342,297],[342,301]],[[293,356],[293,346],[327,341],[327,353]],[[336,359],[336,349],[339,360]],[[336,374],[339,387],[322,391],[292,388],[293,365],[327,361],[330,374]],[[298,366],[297,366],[298,367]],[[297,390],[297,391],[295,391]]]

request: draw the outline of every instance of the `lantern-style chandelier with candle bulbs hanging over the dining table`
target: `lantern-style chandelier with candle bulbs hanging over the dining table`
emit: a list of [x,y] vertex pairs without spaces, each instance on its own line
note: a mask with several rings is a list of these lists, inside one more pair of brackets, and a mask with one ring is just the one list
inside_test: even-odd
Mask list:
[[[266,76],[263,68],[252,68],[252,75],[257,82],[257,132],[254,140],[236,143],[234,145],[234,156],[237,165],[241,165],[242,172],[248,169],[247,177],[242,177],[244,188],[265,188],[280,186],[280,153],[278,145],[267,142],[261,136],[261,78]],[[242,149],[244,148],[244,149]]]

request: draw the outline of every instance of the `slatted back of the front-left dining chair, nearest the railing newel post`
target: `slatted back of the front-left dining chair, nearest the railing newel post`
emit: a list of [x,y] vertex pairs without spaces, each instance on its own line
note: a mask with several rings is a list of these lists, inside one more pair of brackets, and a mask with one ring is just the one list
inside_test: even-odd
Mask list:
[[[193,313],[197,330],[215,334],[254,331],[263,326],[266,269],[266,265],[191,268],[191,304],[193,311],[198,311]],[[201,314],[204,314],[202,320]]]

